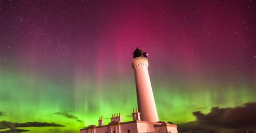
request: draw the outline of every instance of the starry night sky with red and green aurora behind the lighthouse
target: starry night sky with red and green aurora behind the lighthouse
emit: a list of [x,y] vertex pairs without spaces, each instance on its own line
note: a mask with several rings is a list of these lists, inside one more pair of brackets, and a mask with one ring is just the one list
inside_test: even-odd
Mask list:
[[[137,47],[149,54],[160,121],[182,127],[216,109],[248,120],[255,43],[254,0],[0,0],[0,131],[79,132],[114,113],[131,121]],[[234,124],[224,125],[212,126]]]

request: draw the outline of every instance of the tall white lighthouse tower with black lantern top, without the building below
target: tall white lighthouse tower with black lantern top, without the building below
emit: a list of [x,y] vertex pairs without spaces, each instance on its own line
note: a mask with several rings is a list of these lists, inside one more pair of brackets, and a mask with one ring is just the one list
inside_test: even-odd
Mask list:
[[147,54],[138,47],[133,53],[132,68],[134,69],[137,102],[142,121],[158,122],[158,114],[150,83],[149,62]]

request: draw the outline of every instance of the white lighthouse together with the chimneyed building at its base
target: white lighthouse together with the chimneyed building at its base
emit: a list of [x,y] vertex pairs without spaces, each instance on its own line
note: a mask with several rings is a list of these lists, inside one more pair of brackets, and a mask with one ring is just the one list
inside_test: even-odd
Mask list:
[[139,112],[138,109],[136,112],[133,109],[133,121],[123,122],[120,113],[119,115],[114,114],[109,124],[104,125],[101,117],[101,119],[99,118],[98,126],[90,125],[85,129],[80,129],[80,133],[178,133],[177,125],[161,122],[158,119],[147,67],[149,67],[147,54],[137,48],[133,53],[132,68],[134,69],[136,81]]

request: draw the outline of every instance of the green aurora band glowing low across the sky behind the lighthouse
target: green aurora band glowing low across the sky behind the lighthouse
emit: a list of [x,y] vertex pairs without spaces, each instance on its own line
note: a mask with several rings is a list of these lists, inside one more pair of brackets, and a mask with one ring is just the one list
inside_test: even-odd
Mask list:
[[[132,74],[129,79],[114,83],[107,80],[104,89],[97,88],[97,83],[83,79],[78,80],[71,89],[71,85],[60,86],[47,79],[6,71],[0,77],[0,108],[6,116],[0,117],[0,120],[42,121],[65,125],[22,128],[31,132],[78,132],[89,124],[97,125],[100,116],[103,116],[105,123],[109,123],[110,116],[114,113],[121,113],[124,121],[131,121],[132,108],[137,107]],[[196,110],[207,113],[213,106],[234,107],[255,101],[255,90],[247,84],[192,85],[186,82],[159,82],[157,79],[151,83],[161,121],[193,121],[195,118],[192,112]],[[54,114],[63,110],[68,110],[82,122]]]

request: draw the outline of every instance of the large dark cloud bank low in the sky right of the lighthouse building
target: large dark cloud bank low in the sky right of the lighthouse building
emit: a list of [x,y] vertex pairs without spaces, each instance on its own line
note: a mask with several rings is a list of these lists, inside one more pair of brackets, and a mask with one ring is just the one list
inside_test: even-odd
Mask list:
[[197,120],[179,124],[179,131],[214,132],[222,129],[256,129],[256,102],[234,108],[213,107],[208,114],[197,111],[193,112],[193,115]]

